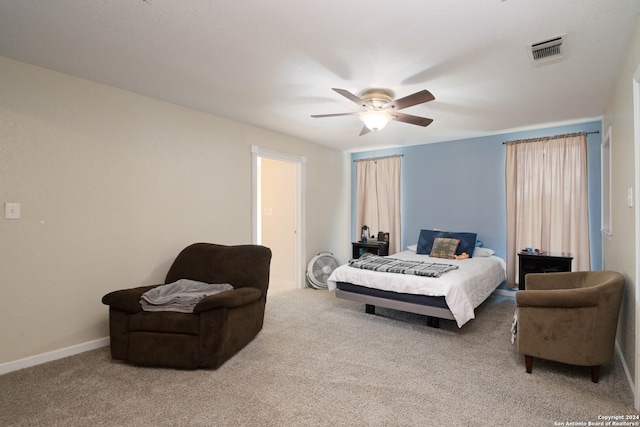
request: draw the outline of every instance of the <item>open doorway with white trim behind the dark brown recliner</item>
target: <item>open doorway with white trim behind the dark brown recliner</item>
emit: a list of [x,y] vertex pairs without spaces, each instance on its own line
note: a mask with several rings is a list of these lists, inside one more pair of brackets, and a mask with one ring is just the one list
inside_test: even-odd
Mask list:
[[253,242],[271,248],[269,293],[304,287],[304,157],[252,146]]

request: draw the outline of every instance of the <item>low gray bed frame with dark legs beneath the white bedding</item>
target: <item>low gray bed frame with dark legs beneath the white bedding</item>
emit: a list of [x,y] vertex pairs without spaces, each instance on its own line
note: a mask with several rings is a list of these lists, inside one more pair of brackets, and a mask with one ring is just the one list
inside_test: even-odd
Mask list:
[[444,297],[400,294],[346,282],[337,282],[335,293],[337,298],[365,304],[368,314],[375,314],[377,306],[427,316],[427,325],[434,328],[440,327],[440,319],[455,321]]

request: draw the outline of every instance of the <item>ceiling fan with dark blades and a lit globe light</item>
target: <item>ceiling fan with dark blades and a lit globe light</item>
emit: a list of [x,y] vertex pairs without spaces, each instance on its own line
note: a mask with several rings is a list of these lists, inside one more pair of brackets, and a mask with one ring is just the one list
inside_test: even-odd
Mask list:
[[332,89],[348,100],[365,108],[366,111],[362,113],[313,114],[311,117],[359,116],[360,120],[364,122],[360,136],[372,130],[382,129],[391,120],[422,127],[429,126],[431,122],[433,122],[433,119],[398,112],[398,110],[402,110],[403,108],[436,99],[428,90],[423,89],[412,95],[394,100],[391,92],[385,89],[368,89],[360,96],[356,96],[345,89]]

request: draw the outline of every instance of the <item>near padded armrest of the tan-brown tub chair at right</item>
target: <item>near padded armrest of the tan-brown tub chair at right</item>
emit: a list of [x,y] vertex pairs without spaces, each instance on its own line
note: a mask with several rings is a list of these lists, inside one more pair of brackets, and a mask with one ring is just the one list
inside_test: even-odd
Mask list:
[[599,292],[593,288],[524,290],[516,292],[518,307],[597,307]]

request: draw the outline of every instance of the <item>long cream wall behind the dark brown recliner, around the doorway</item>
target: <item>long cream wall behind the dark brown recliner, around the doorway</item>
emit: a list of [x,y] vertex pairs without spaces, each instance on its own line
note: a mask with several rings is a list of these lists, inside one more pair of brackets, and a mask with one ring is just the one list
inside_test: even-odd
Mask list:
[[252,144],[307,158],[307,254],[348,236],[343,153],[0,58],[0,364],[106,337],[102,296],[192,242],[251,243]]

